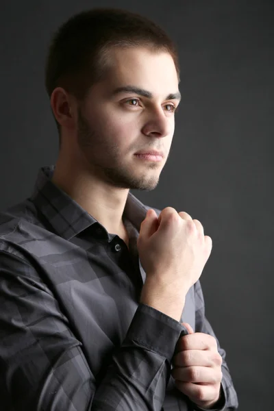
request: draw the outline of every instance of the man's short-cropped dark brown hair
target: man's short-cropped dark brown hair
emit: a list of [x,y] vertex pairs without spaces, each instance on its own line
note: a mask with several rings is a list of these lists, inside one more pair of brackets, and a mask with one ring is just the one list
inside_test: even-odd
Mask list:
[[[95,8],[75,14],[53,35],[45,66],[49,98],[60,86],[83,100],[106,73],[108,51],[113,47],[147,47],[171,54],[179,81],[175,43],[149,18],[127,10]],[[60,124],[55,122],[60,136]]]

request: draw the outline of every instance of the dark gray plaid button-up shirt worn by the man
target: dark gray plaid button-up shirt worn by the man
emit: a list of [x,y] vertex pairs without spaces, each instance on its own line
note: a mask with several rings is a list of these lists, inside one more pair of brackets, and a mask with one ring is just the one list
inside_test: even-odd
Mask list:
[[[51,182],[53,169],[41,167],[32,196],[0,213],[1,410],[200,410],[171,376],[186,328],[139,303],[146,273],[136,240],[151,207],[129,192],[128,249]],[[181,321],[216,338],[199,281]],[[216,409],[235,410],[217,344],[223,379]]]

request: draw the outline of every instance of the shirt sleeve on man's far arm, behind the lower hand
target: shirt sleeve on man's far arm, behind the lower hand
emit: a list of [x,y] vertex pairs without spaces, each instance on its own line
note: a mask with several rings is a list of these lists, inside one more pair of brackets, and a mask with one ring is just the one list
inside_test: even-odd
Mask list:
[[[232,377],[229,373],[227,362],[225,361],[226,353],[223,348],[220,347],[219,340],[216,338],[212,326],[210,325],[208,319],[205,316],[205,303],[203,299],[203,290],[201,288],[201,283],[198,280],[195,285],[195,332],[203,332],[210,334],[216,339],[218,351],[223,358],[222,373],[223,378],[221,381],[221,397],[216,404],[216,408],[212,408],[210,411],[225,411],[227,408],[229,411],[238,409],[238,397],[236,390],[234,388]],[[194,410],[197,411],[208,411],[203,408],[199,408],[195,403],[193,403]]]

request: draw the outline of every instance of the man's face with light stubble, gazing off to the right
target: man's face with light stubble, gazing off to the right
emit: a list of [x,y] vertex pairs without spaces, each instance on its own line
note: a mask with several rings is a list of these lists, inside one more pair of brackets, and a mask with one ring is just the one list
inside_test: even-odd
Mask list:
[[[179,99],[178,78],[169,53],[144,48],[114,49],[108,76],[78,108],[77,142],[88,170],[117,188],[153,190],[168,158]],[[114,92],[132,86],[146,90]],[[169,99],[167,98],[169,96]],[[174,97],[174,96],[173,96]],[[134,153],[157,150],[160,162]]]

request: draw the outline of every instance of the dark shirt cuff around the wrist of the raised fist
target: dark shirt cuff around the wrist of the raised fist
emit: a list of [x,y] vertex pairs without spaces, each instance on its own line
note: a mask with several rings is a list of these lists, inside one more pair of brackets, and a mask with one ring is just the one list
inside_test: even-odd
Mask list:
[[127,337],[138,345],[159,353],[171,363],[180,336],[188,334],[184,325],[151,306],[140,303]]

